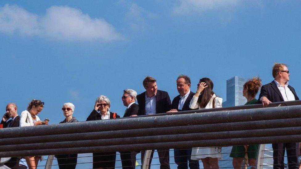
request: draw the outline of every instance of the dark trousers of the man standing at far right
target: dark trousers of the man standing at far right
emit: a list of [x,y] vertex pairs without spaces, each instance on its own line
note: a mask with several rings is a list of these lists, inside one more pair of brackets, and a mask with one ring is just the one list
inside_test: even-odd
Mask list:
[[275,143],[273,147],[274,169],[284,169],[284,152],[287,149],[287,163],[289,169],[298,169],[299,143]]

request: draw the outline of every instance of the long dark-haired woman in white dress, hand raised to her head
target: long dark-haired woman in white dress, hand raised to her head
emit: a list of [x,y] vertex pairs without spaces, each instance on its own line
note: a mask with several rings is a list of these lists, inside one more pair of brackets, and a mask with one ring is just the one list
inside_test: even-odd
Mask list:
[[[213,82],[209,78],[201,78],[189,107],[191,109],[222,107],[223,99],[216,96],[212,89]],[[192,148],[191,159],[202,160],[204,169],[219,168],[218,160],[221,159],[221,147]]]

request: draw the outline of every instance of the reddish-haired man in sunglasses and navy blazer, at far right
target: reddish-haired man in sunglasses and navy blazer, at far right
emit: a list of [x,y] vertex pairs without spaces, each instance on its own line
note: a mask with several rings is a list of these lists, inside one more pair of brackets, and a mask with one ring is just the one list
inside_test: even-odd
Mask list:
[[[288,85],[290,80],[289,70],[286,64],[275,63],[272,71],[274,80],[261,87],[258,101],[263,107],[268,107],[272,102],[299,100],[295,89]],[[287,161],[290,169],[299,168],[298,143],[274,143],[273,159],[274,169],[284,169],[284,152],[287,150]]]

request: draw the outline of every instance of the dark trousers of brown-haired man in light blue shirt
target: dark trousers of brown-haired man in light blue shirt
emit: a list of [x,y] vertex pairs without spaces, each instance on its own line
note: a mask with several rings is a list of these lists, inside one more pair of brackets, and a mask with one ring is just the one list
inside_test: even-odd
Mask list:
[[[150,154],[150,162],[149,162],[149,166],[148,168],[150,169],[150,164],[151,164],[151,160],[154,156],[154,151],[155,150],[152,150],[151,154]],[[162,149],[162,150],[157,150],[158,152],[158,156],[159,156],[159,161],[160,161],[160,169],[170,169],[170,166],[169,166],[169,149]],[[143,160],[144,158],[144,153],[145,151],[141,151],[141,161]]]

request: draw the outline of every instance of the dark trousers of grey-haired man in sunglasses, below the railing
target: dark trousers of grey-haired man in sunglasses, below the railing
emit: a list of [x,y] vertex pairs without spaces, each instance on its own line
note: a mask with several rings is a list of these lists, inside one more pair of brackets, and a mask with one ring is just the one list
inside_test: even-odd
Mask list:
[[135,169],[137,151],[120,152],[122,169]]

